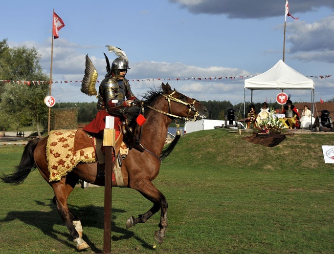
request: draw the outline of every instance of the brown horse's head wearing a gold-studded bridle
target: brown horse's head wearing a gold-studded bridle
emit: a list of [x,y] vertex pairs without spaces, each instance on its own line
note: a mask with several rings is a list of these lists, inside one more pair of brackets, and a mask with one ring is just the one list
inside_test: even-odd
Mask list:
[[195,99],[191,99],[177,90],[172,90],[167,83],[161,84],[162,96],[168,101],[169,114],[181,120],[196,121],[208,116],[207,108]]

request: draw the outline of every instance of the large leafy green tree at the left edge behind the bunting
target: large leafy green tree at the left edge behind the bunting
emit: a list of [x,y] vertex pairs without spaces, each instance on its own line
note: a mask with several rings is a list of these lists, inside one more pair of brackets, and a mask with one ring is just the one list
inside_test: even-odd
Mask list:
[[[7,39],[0,41],[0,80],[47,81],[35,48],[9,47]],[[0,82],[0,130],[35,124],[40,127],[48,120],[44,98],[46,85],[17,85]]]

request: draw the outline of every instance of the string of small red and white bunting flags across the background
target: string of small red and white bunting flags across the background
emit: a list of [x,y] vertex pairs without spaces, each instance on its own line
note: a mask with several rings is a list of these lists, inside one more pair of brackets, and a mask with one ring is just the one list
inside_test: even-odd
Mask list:
[[[165,81],[165,80],[176,80],[176,81],[188,81],[188,80],[199,80],[199,81],[217,81],[217,80],[235,80],[235,79],[247,79],[247,78],[251,78],[251,77],[255,77],[256,75],[250,75],[250,76],[229,76],[229,77],[204,77],[204,78],[166,78],[166,79],[130,79],[129,81],[133,81],[133,82],[153,82],[155,80],[159,80],[159,81]],[[308,78],[314,78],[314,79],[326,79],[329,77],[332,77],[332,75],[316,75],[316,76],[306,76]],[[23,85],[49,85],[50,81],[26,81],[26,80],[0,80],[0,82],[2,83],[14,83],[14,84],[20,84],[22,83]],[[102,80],[97,80],[96,83],[101,83]],[[63,83],[82,83],[82,80],[76,80],[76,81],[52,81],[52,84],[63,84]]]

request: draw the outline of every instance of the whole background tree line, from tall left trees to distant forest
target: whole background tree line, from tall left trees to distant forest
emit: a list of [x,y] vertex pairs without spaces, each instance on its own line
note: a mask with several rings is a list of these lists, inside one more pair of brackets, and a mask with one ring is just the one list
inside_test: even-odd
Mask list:
[[[48,81],[40,65],[41,56],[35,48],[9,47],[7,39],[0,41],[0,80]],[[48,85],[23,85],[0,82],[0,131],[19,130],[23,126],[36,126],[38,135],[47,129],[48,107],[44,98],[49,93]],[[327,102],[334,102],[334,97]],[[230,101],[200,101],[209,111],[208,119],[224,120],[227,110],[233,108],[238,120],[244,117],[244,103],[232,105]],[[245,115],[250,102],[245,103]],[[96,103],[66,103],[54,107],[78,107],[78,123],[88,123],[96,115]],[[262,103],[255,104],[260,111]],[[280,108],[278,103],[268,105]],[[52,110],[51,110],[52,111]]]

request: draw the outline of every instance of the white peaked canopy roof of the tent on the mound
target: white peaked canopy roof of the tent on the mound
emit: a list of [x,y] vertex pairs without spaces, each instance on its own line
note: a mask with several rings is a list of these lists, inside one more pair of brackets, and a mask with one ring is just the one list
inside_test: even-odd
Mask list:
[[246,79],[245,88],[250,90],[271,89],[313,89],[314,82],[308,77],[292,69],[282,60],[278,61],[266,72]]

